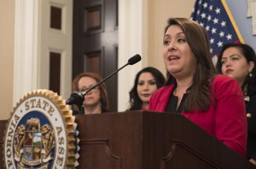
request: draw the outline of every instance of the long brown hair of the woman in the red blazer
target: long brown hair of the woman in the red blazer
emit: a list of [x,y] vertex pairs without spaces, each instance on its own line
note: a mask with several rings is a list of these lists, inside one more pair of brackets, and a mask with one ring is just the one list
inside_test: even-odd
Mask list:
[[[212,101],[210,94],[213,95],[211,80],[216,74],[211,60],[208,35],[204,27],[191,19],[184,18],[169,19],[164,34],[171,25],[177,25],[184,32],[186,41],[197,59],[193,84],[187,90],[189,95],[186,98],[184,110],[187,112],[193,110],[206,111]],[[176,83],[175,78],[169,72],[167,72],[167,75],[167,85]]]

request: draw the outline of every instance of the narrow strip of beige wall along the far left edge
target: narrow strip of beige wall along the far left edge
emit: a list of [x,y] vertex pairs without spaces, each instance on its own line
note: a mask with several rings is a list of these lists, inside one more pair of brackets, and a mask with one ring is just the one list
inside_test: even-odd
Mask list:
[[14,0],[0,1],[0,120],[10,117],[12,111],[14,8]]

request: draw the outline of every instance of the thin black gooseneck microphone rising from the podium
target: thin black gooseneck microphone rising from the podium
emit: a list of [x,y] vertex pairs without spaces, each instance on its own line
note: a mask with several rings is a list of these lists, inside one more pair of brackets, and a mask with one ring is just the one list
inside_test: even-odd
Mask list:
[[141,57],[139,54],[136,54],[134,56],[132,56],[131,58],[129,58],[127,64],[123,65],[122,67],[120,67],[119,69],[117,69],[116,71],[114,71],[112,74],[110,74],[109,76],[107,76],[106,78],[104,78],[103,80],[101,80],[100,82],[98,82],[97,84],[94,84],[92,87],[90,87],[89,89],[83,90],[83,91],[74,91],[71,95],[70,98],[67,99],[66,104],[72,105],[72,104],[77,104],[77,105],[82,105],[83,104],[83,100],[85,100],[85,95],[91,91],[92,89],[94,89],[95,87],[98,87],[98,85],[100,85],[101,83],[105,82],[107,79],[109,79],[111,76],[113,76],[114,74],[116,74],[118,71],[120,71],[122,68],[126,67],[127,65],[134,65],[136,63],[138,63],[141,60]]

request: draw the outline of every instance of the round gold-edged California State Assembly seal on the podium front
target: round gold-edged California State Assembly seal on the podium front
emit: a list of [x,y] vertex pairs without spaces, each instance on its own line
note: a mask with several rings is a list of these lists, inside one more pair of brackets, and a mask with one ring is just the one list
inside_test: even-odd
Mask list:
[[52,91],[32,91],[17,103],[3,141],[6,168],[74,168],[74,116]]

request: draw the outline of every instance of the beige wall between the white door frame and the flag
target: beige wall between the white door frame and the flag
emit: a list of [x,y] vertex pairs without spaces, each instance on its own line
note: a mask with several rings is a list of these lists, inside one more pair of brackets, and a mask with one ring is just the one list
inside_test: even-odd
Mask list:
[[145,41],[148,41],[148,60],[149,66],[156,67],[165,75],[164,62],[162,59],[162,47],[164,27],[170,17],[189,18],[195,0],[158,0],[149,1],[148,11],[148,34]]

